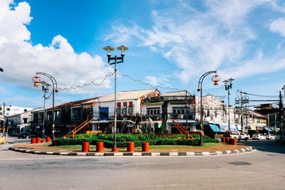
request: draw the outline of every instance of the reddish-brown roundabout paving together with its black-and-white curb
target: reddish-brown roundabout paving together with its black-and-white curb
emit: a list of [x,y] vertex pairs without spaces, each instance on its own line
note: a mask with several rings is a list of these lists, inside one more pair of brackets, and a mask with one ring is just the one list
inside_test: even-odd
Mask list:
[[9,149],[32,154],[55,154],[55,155],[72,155],[72,156],[206,156],[221,154],[236,154],[241,152],[252,152],[254,149],[242,144],[232,145],[224,143],[215,147],[195,147],[182,149],[150,149],[150,152],[142,152],[141,149],[135,149],[135,152],[120,150],[111,152],[106,149],[104,152],[96,152],[90,149],[89,152],[82,152],[81,149],[63,149],[56,147],[44,146],[45,143],[37,144],[17,144]]

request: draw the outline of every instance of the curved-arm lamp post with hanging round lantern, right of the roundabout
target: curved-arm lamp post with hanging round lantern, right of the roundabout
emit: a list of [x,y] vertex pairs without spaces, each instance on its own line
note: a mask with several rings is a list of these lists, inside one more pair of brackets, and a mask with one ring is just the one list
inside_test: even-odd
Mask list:
[[219,85],[219,80],[221,80],[221,77],[217,75],[217,70],[212,70],[207,73],[204,73],[200,78],[199,78],[199,83],[198,83],[198,89],[197,91],[201,93],[201,101],[200,101],[200,146],[202,146],[202,132],[203,132],[203,107],[202,107],[202,83],[204,78],[209,75],[215,73],[216,75],[212,76],[212,81],[214,82],[214,85]]

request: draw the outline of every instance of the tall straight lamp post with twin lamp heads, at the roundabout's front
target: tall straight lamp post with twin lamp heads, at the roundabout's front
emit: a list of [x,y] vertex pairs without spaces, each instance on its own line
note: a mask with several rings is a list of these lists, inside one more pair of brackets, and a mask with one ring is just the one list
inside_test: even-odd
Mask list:
[[[114,56],[111,57],[111,51],[114,51],[115,49],[107,46],[105,48],[103,48],[103,50],[107,51],[107,56],[108,56],[108,63],[110,63],[110,60],[114,60],[113,63],[110,63],[110,65],[115,64],[115,119],[114,119],[114,149],[113,151],[115,151],[115,149],[117,148],[116,145],[116,135],[117,135],[117,63],[124,63],[124,56],[125,56],[125,51],[127,51],[129,48],[125,47],[125,46],[119,46],[117,48],[118,50],[121,51],[120,57]],[[120,61],[118,61],[120,60]]]

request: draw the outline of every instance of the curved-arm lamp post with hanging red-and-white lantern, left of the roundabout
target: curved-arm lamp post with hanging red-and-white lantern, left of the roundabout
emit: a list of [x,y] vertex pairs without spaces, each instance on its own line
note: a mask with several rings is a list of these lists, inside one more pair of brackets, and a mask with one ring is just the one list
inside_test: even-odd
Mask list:
[[53,139],[54,139],[54,128],[55,128],[55,125],[54,125],[54,120],[55,120],[55,118],[54,118],[54,92],[58,93],[58,83],[56,82],[56,79],[53,78],[52,75],[50,75],[48,73],[43,73],[43,72],[36,72],[36,76],[34,76],[32,78],[34,87],[38,87],[39,83],[41,83],[41,78],[38,77],[38,75],[46,76],[47,78],[51,79],[51,83],[53,83],[53,111],[52,111],[52,117],[53,117],[52,134],[53,134],[53,138],[51,139],[53,141]]

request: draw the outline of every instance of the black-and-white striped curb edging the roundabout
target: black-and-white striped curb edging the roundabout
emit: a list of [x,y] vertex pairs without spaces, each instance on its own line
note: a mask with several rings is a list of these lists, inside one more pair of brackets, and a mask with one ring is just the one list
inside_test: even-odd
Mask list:
[[159,157],[159,156],[217,156],[223,154],[237,154],[243,152],[252,152],[254,149],[252,147],[248,147],[245,149],[233,149],[227,151],[217,151],[217,152],[95,152],[95,153],[81,153],[81,152],[39,152],[39,151],[31,151],[26,149],[15,149],[13,147],[9,147],[10,150],[16,152],[24,152],[24,153],[31,153],[31,154],[49,154],[49,155],[64,155],[64,156],[91,156],[91,157]]

